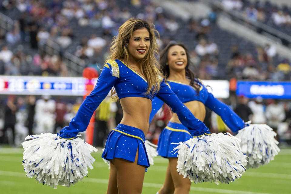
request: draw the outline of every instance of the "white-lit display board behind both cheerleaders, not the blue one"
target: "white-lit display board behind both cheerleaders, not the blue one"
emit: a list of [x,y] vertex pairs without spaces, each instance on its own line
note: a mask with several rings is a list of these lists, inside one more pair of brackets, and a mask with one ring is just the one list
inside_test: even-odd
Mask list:
[[[0,95],[50,95],[83,96],[88,82],[96,84],[97,79],[91,81],[82,77],[42,77],[42,76],[0,76]],[[207,89],[216,98],[229,97],[229,81],[202,80]]]

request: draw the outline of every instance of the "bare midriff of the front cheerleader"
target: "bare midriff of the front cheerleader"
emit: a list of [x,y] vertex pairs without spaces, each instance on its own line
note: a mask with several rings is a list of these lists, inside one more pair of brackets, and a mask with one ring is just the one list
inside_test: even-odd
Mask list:
[[152,111],[152,101],[141,97],[126,97],[120,99],[123,117],[120,124],[141,129],[147,134],[149,115]]

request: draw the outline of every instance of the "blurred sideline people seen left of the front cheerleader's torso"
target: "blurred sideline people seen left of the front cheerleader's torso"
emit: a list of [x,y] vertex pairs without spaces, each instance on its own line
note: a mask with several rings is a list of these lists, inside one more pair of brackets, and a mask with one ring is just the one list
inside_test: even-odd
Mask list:
[[[0,101],[0,147],[6,144],[20,146],[27,135],[59,132],[69,125],[82,102],[82,98],[52,98],[48,93],[39,99],[34,95],[8,95]],[[109,128],[115,127],[121,119],[120,103],[106,97],[96,110],[94,145],[103,146]],[[85,132],[81,134],[85,139]]]

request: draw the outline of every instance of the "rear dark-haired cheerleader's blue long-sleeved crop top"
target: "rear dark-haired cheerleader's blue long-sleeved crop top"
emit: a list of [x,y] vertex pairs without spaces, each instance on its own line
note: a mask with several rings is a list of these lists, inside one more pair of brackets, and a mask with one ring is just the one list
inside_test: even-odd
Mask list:
[[[194,100],[202,102],[207,108],[218,114],[232,132],[237,132],[239,129],[243,129],[247,125],[228,105],[219,101],[212,95],[212,93],[208,92],[199,79],[195,80],[196,84],[200,86],[198,95],[195,88],[190,85],[172,80],[167,80],[166,82],[182,103]],[[152,112],[149,122],[151,122],[152,118],[162,105],[163,102],[158,98],[152,100]]]

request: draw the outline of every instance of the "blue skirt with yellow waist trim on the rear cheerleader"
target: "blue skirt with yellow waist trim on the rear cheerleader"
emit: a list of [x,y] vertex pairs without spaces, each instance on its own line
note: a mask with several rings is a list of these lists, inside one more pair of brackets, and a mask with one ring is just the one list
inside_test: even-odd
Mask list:
[[159,156],[165,158],[177,157],[178,153],[172,151],[178,145],[171,143],[185,142],[191,138],[192,136],[184,125],[169,122],[159,136],[157,152]]

